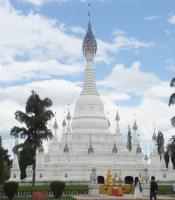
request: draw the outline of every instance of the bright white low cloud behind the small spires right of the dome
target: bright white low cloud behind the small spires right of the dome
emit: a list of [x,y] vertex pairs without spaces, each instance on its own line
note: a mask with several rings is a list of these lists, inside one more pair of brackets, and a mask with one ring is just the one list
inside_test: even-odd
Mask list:
[[[105,103],[106,99],[104,98]],[[108,102],[108,101],[107,101]],[[116,104],[106,103],[106,113],[109,113],[111,131],[115,131]],[[149,147],[152,144],[153,123],[156,123],[156,133],[161,130],[167,143],[168,138],[174,134],[170,119],[174,114],[173,109],[168,107],[166,102],[160,99],[143,98],[137,106],[124,106],[119,104],[120,129],[126,139],[128,124],[132,127],[134,120],[137,120],[138,133],[142,145]],[[134,115],[136,114],[136,116]]]

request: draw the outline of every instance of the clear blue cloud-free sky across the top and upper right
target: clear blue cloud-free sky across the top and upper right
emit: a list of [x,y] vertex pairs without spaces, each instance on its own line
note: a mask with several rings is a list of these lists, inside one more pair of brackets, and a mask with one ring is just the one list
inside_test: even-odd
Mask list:
[[[30,1],[27,3],[25,0],[14,0],[11,3],[25,14],[32,11],[54,18],[66,26],[81,26],[84,29],[87,26],[87,1],[69,0],[52,3],[48,1],[40,6]],[[117,55],[114,53],[111,56],[115,61],[126,65],[130,65],[134,59],[139,59],[143,70],[156,72],[162,79],[167,80],[172,77],[172,74],[164,68],[167,60],[174,59],[173,52],[175,52],[175,30],[167,20],[173,16],[174,7],[172,0],[97,0],[92,1],[91,21],[96,36],[102,40],[112,42],[113,32],[120,29],[127,36],[153,42],[152,48],[140,49],[137,52],[131,49],[127,52],[121,51]],[[97,75],[100,74],[97,73]]]

